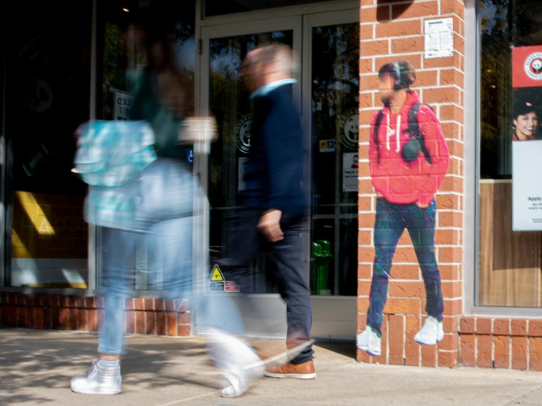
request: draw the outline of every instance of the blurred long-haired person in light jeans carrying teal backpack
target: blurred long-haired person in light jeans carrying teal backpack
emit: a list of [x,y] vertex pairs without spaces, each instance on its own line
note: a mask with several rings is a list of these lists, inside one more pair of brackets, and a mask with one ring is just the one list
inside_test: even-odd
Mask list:
[[184,163],[186,93],[170,25],[153,10],[139,11],[147,66],[127,75],[134,95],[130,120],[92,121],[77,132],[73,171],[91,185],[86,219],[102,231],[100,289],[106,300],[99,357],[87,376],[71,382],[72,390],[83,394],[121,392],[124,299],[134,290],[138,239],[149,247],[148,271],[156,284],[150,289],[165,290],[175,299],[191,289],[192,199],[198,188]]

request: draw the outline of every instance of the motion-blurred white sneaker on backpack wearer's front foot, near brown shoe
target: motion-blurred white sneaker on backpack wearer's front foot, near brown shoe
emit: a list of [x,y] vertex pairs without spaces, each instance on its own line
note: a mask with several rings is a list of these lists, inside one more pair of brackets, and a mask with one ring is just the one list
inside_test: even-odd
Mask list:
[[243,340],[214,329],[208,348],[212,362],[229,382],[229,386],[222,389],[222,397],[241,396],[249,388],[251,379],[263,376],[260,357]]

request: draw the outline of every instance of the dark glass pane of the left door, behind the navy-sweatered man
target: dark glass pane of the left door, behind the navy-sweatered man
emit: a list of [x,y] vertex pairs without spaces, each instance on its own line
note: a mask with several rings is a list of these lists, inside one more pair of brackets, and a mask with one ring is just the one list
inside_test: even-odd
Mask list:
[[[210,234],[209,261],[213,265],[224,258],[229,235],[234,235],[237,197],[243,193],[243,165],[250,152],[250,125],[253,102],[242,89],[239,78],[241,61],[263,43],[292,46],[293,31],[214,38],[210,41],[209,101],[218,126],[218,140],[209,155]],[[250,288],[246,293],[276,293],[273,264],[261,252],[250,270]],[[227,276],[225,276],[227,278]]]

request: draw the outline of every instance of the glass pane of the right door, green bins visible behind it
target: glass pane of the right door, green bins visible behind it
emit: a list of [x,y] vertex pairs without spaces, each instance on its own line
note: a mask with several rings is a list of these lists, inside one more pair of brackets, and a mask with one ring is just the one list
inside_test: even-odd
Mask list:
[[311,290],[353,296],[357,286],[351,281],[358,264],[359,24],[313,28],[311,79]]

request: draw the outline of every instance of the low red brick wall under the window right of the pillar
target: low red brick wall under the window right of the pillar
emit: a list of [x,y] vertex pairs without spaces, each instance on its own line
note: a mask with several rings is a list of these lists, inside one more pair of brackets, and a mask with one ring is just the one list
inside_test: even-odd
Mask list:
[[462,317],[460,363],[542,371],[542,319]]

